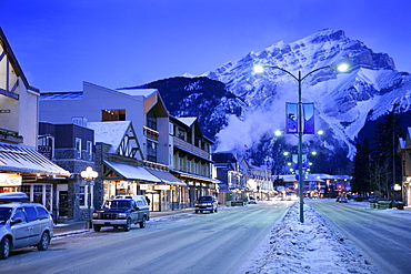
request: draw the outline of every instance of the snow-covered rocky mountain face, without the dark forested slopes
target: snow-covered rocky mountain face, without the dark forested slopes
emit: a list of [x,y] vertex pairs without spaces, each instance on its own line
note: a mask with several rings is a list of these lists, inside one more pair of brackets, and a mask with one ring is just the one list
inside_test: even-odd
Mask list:
[[[301,71],[304,77],[341,61],[351,64],[348,73],[322,69],[302,82],[302,101],[314,102],[315,129],[327,132],[324,136],[304,135],[303,141],[327,149],[330,161],[335,160],[337,150],[352,159],[354,139],[367,121],[387,113],[394,103],[400,104],[401,112],[410,110],[411,77],[397,71],[388,54],[373,52],[363,42],[347,38],[342,30],[323,30],[292,43],[278,42],[204,73],[225,83],[228,91],[247,103],[242,115],[231,116],[217,134],[217,151],[249,150],[262,139],[267,141],[268,135],[274,142],[272,132],[285,129],[285,102],[298,101],[298,82],[292,77],[278,69],[255,74],[254,64],[275,65],[295,77]],[[283,138],[297,143],[292,135]]]

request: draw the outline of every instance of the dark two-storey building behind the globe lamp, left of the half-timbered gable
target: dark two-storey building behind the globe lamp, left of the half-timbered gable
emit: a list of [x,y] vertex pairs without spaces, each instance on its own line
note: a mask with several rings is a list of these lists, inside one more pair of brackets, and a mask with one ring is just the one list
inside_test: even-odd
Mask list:
[[[94,207],[94,187],[80,176],[94,165],[94,132],[78,124],[39,123],[38,150],[53,163],[68,170],[71,176],[53,184],[54,221],[87,220],[88,209]],[[89,195],[90,193],[90,195]]]

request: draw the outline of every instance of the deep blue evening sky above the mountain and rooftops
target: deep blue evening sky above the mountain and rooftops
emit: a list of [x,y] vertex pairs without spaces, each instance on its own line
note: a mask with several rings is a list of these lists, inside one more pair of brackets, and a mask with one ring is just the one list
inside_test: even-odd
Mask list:
[[405,0],[2,0],[0,27],[31,85],[74,91],[198,75],[327,28],[411,72],[410,14]]

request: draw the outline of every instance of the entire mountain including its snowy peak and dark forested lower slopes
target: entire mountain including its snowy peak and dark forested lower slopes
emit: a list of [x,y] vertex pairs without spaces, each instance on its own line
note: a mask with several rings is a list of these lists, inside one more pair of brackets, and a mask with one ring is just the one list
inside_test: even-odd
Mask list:
[[[351,65],[348,73],[328,68],[309,74],[342,61]],[[273,133],[285,131],[285,102],[298,102],[298,82],[279,69],[257,74],[255,64],[279,67],[295,77],[299,71],[309,74],[302,82],[302,101],[314,103],[315,130],[325,133],[303,136],[304,153],[318,152],[309,156],[313,172],[350,174],[359,133],[360,138],[372,134],[363,130],[367,124],[393,104],[409,116],[410,73],[397,71],[387,53],[373,52],[342,30],[322,30],[292,43],[280,41],[199,78],[144,87],[159,89],[172,115],[199,116],[204,134],[215,141],[215,152],[233,151],[280,174],[290,161],[282,152],[297,153],[298,139]]]

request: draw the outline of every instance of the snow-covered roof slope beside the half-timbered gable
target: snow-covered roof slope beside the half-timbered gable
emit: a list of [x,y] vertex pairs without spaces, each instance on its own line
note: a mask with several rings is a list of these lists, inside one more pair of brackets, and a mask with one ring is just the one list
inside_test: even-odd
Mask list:
[[96,142],[111,144],[109,153],[116,153],[130,123],[130,121],[89,122],[87,126],[94,130]]

